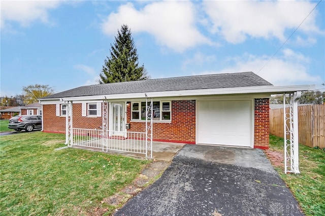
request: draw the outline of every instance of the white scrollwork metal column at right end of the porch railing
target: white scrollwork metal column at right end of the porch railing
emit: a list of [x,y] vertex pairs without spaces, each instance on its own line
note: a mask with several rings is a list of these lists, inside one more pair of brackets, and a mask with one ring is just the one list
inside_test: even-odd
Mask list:
[[146,98],[146,158],[152,158],[152,98]]

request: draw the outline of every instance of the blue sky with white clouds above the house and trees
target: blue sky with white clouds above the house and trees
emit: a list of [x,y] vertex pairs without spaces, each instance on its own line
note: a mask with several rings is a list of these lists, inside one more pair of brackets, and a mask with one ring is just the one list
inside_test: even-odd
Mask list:
[[0,94],[96,84],[122,24],[151,78],[252,71],[276,86],[323,91],[325,1],[318,2],[1,1]]

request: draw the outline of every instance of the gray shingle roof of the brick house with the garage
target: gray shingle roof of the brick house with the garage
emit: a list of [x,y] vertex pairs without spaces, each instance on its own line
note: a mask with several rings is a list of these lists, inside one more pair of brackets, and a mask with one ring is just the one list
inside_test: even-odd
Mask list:
[[42,99],[263,85],[272,84],[253,72],[210,74],[87,85],[62,91]]

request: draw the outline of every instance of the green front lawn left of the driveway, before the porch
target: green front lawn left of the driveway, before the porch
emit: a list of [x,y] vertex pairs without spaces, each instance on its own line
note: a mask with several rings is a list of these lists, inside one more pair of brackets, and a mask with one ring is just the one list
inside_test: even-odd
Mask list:
[[118,155],[65,148],[64,134],[0,137],[0,215],[109,215],[103,200],[131,183],[150,163]]

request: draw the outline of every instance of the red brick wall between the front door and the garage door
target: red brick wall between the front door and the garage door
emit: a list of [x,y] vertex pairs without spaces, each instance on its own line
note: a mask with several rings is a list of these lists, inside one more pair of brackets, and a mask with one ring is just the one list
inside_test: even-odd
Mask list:
[[[127,123],[132,132],[145,132],[145,122],[131,122],[131,105],[127,106]],[[153,140],[196,143],[196,101],[172,101],[172,122],[153,122]]]

